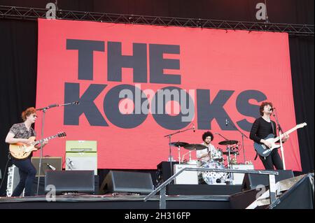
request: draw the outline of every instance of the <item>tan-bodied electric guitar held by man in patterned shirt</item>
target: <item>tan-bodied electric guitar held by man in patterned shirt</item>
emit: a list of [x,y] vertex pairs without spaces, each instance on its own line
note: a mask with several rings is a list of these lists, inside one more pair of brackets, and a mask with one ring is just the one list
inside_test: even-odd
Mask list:
[[52,138],[56,137],[64,137],[66,136],[66,133],[64,131],[59,132],[55,136],[50,136],[48,138],[43,138],[41,140],[35,141],[35,136],[29,137],[29,141],[33,141],[31,145],[27,145],[26,143],[15,143],[15,144],[10,144],[9,150],[10,154],[15,158],[15,159],[26,159],[29,157],[31,152],[38,150],[35,148],[35,145],[39,143],[43,143],[43,141],[50,140]]

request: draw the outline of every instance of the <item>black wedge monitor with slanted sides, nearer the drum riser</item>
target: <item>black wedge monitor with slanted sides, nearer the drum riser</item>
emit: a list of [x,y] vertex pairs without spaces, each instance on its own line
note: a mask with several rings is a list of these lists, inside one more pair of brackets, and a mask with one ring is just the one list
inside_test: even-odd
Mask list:
[[150,173],[109,171],[100,187],[100,194],[153,192],[153,182]]

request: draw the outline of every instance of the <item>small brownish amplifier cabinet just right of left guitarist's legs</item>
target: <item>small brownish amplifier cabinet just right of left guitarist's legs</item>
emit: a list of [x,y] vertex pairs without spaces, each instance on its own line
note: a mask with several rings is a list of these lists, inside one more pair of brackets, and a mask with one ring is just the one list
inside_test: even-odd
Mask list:
[[62,170],[62,157],[42,157],[41,158],[41,171],[39,170],[40,157],[31,157],[31,163],[36,168],[36,177],[44,177],[46,171],[61,171]]

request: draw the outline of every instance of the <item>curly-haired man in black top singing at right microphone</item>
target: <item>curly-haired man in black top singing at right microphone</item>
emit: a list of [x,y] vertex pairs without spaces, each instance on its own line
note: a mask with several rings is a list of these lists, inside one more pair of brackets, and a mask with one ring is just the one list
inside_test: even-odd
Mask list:
[[[262,102],[259,108],[261,117],[255,120],[253,126],[251,127],[251,134],[249,138],[256,143],[262,143],[270,148],[271,143],[264,140],[269,134],[274,134],[276,137],[276,123],[270,120],[270,115],[272,114],[272,103]],[[282,138],[282,143],[288,140],[288,134],[284,134]],[[256,154],[255,159],[258,154]],[[272,152],[267,157],[262,157],[259,155],[262,164],[265,166],[266,170],[273,170],[274,166],[277,170],[283,170],[282,159],[278,153],[278,150],[272,150]]]

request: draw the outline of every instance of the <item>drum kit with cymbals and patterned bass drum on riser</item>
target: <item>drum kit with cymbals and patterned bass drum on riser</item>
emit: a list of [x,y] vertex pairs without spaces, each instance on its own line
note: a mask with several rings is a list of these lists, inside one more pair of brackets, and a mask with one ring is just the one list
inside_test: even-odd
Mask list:
[[[237,164],[237,156],[239,155],[239,145],[237,145],[238,141],[235,140],[226,140],[221,141],[219,145],[225,145],[225,151],[220,148],[216,148],[215,150],[209,150],[209,161],[195,160],[191,159],[191,152],[194,150],[204,150],[207,149],[206,145],[202,144],[189,144],[185,142],[174,142],[169,143],[169,145],[178,148],[179,151],[179,164],[181,162],[183,164],[192,164],[197,165],[197,167],[202,168],[230,168],[230,165]],[[189,159],[184,160],[186,154],[183,154],[181,159],[181,148],[189,150],[186,154],[189,154]],[[234,158],[232,158],[234,155]],[[226,158],[225,158],[226,156]],[[226,162],[225,162],[226,161]],[[201,182],[205,182],[208,185],[213,184],[226,184],[228,182],[229,173],[223,172],[209,172],[209,171],[201,171],[199,173],[199,178]]]

